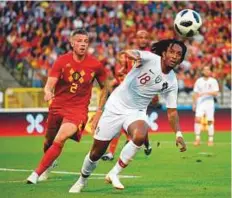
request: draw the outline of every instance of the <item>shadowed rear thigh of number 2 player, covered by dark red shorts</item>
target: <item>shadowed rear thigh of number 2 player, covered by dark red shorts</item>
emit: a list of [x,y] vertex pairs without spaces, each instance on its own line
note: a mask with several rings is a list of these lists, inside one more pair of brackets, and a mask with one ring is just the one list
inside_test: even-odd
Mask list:
[[62,121],[63,121],[63,117],[61,115],[54,114],[52,112],[48,113],[46,132],[45,132],[45,138],[48,142],[53,142],[60,129]]

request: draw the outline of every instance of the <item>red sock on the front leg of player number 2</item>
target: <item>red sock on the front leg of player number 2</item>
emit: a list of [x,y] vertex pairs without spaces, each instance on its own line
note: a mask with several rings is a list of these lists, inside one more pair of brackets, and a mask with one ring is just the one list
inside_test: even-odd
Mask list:
[[53,142],[52,146],[44,153],[44,156],[36,168],[35,172],[38,175],[41,175],[51,164],[52,162],[60,155],[63,145],[58,142]]

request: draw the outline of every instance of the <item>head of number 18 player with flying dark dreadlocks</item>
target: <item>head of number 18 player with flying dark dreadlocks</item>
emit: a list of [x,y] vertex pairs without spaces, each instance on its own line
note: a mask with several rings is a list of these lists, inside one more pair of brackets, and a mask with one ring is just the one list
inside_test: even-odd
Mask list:
[[151,46],[151,52],[161,56],[165,65],[171,68],[184,60],[186,51],[185,44],[175,39],[161,40]]

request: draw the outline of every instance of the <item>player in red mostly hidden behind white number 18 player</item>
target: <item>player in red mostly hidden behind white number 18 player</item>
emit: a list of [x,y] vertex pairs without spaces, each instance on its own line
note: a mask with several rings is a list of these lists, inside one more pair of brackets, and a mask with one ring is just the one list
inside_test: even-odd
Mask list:
[[[149,50],[149,33],[146,30],[139,30],[136,33],[136,45],[138,46],[139,50]],[[119,63],[120,65],[115,67],[115,78],[117,80],[116,85],[119,85],[126,74],[131,70],[134,60],[128,59],[125,54],[119,55]],[[122,129],[122,133],[124,133],[124,130]],[[122,134],[121,133],[121,134]],[[127,133],[124,133],[127,137],[127,142],[130,140],[130,137],[127,135]],[[104,154],[102,156],[103,160],[113,160],[114,159],[114,153],[116,151],[119,137],[115,137],[111,142],[108,149],[108,153]],[[146,137],[146,140],[144,142],[145,149],[144,152],[146,155],[150,155],[152,148],[149,143],[148,135]]]

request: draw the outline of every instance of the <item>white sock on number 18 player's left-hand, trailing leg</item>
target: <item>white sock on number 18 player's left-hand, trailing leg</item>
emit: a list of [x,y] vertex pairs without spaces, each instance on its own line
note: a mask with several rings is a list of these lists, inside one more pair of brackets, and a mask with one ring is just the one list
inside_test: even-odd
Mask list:
[[[94,169],[97,167],[98,161],[93,162],[89,158],[89,153],[85,156],[82,168],[81,168],[81,173],[86,176],[90,176],[91,173],[94,171]],[[87,180],[88,177],[83,177],[82,175],[80,176],[79,180],[80,182],[84,183]]]

